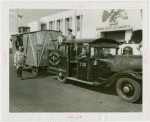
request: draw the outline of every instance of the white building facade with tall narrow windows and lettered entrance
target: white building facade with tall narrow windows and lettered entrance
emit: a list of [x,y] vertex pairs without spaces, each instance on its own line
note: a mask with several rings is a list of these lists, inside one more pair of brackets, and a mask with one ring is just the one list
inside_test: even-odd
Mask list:
[[28,23],[30,31],[61,30],[68,28],[76,38],[111,38],[123,42],[130,40],[132,32],[142,30],[140,9],[76,9],[46,16]]

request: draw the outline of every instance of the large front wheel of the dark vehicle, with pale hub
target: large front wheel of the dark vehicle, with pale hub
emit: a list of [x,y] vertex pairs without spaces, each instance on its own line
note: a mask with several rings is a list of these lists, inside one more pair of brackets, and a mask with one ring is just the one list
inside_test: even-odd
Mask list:
[[119,97],[127,102],[136,102],[142,95],[141,85],[130,78],[120,78],[116,84]]

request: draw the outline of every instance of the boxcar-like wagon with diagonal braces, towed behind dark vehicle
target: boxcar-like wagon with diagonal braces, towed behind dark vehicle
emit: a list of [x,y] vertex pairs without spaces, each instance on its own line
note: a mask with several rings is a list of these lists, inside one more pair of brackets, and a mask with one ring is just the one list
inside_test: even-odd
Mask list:
[[36,31],[12,35],[13,55],[17,51],[15,42],[17,36],[20,36],[24,53],[27,58],[25,66],[32,66],[32,73],[38,75],[40,68],[48,67],[48,50],[57,49],[57,39],[59,33],[53,30]]

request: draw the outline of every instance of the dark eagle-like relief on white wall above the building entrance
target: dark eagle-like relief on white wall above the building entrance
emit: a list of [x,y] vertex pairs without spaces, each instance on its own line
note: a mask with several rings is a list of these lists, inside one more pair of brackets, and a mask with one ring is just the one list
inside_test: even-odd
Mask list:
[[102,21],[105,22],[107,21],[107,19],[110,20],[110,26],[111,25],[117,25],[118,21],[117,19],[121,17],[122,19],[127,19],[127,13],[124,9],[112,9],[111,12],[109,13],[108,11],[104,11],[103,12],[103,16],[102,16]]

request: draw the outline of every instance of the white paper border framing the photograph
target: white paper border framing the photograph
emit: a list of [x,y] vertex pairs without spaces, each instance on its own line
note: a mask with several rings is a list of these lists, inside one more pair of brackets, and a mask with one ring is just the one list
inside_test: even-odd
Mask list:
[[[72,5],[83,5],[73,8]],[[149,2],[148,1],[3,1],[1,2],[1,88],[2,121],[75,121],[68,115],[82,115],[80,121],[148,121],[149,91]],[[9,9],[143,9],[143,110],[135,113],[9,113]]]

